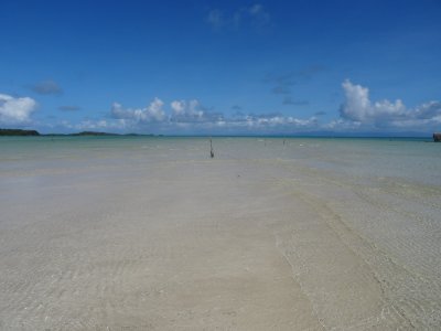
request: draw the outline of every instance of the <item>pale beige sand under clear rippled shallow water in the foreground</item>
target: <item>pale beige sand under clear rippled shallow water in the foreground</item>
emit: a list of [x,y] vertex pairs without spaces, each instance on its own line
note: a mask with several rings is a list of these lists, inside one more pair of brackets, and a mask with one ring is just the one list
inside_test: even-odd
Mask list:
[[1,330],[441,328],[437,185],[180,143],[2,172]]

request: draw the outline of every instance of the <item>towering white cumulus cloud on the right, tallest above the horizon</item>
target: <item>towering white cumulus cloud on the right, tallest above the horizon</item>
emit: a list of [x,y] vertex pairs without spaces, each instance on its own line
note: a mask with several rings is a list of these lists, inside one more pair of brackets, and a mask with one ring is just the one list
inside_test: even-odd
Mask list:
[[348,79],[343,82],[342,87],[345,94],[345,102],[340,108],[342,120],[357,122],[358,126],[385,129],[420,129],[441,124],[440,102],[407,108],[400,99],[373,103],[367,87],[353,84]]

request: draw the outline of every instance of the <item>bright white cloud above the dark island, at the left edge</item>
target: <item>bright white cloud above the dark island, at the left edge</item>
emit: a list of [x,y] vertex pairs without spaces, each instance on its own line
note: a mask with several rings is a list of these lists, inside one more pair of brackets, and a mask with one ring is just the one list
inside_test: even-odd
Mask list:
[[23,124],[30,120],[35,110],[36,102],[30,97],[12,97],[0,94],[0,122]]

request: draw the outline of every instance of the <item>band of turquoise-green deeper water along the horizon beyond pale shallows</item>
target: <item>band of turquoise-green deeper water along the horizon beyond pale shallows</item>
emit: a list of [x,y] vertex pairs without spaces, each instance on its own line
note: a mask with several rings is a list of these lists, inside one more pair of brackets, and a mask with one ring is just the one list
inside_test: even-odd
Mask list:
[[[428,139],[214,138],[213,145],[217,159],[292,160],[335,175],[441,185],[441,143]],[[0,178],[85,161],[110,167],[208,157],[207,138],[1,137]]]

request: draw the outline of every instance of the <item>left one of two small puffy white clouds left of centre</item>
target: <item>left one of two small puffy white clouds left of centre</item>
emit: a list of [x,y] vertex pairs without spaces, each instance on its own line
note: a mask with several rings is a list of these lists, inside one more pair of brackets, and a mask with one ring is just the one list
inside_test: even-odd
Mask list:
[[128,119],[136,122],[159,122],[165,119],[165,113],[162,109],[164,103],[154,98],[146,108],[123,108],[122,105],[114,103],[111,106],[111,116],[117,119]]

